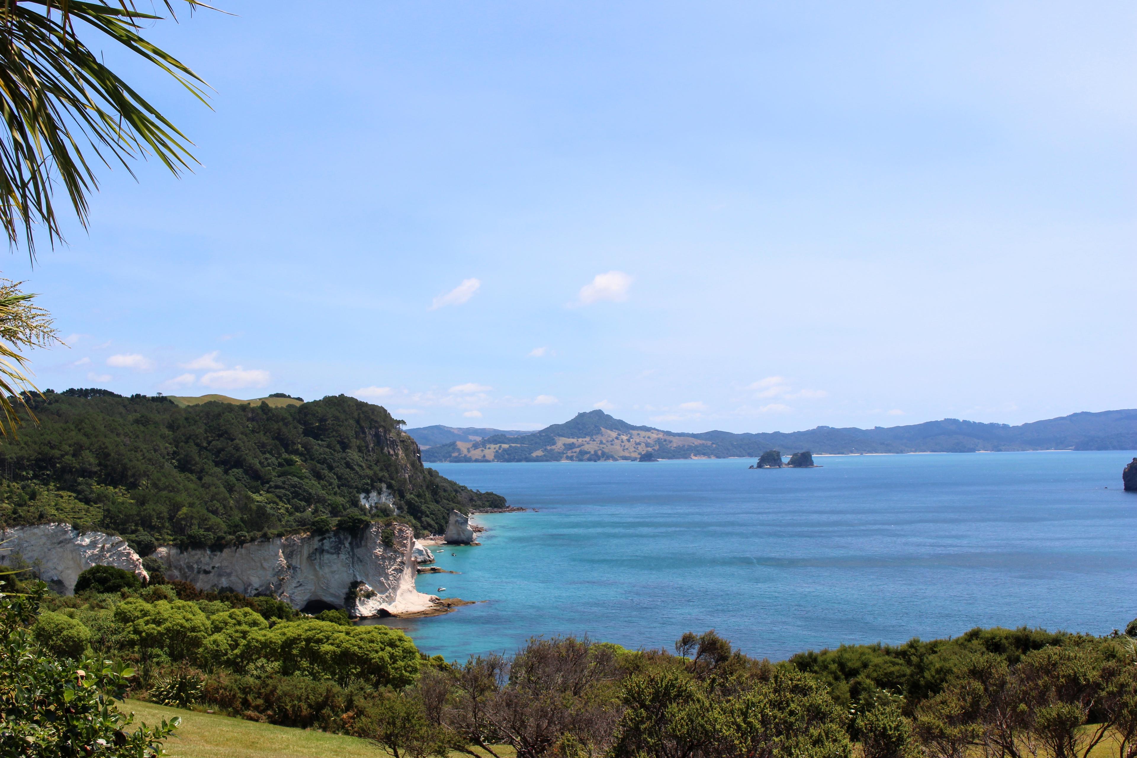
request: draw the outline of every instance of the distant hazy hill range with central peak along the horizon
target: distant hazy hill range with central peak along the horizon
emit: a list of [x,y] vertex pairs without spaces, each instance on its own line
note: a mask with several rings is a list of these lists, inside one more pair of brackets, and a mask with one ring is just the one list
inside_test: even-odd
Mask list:
[[735,434],[732,432],[666,432],[633,426],[603,410],[578,414],[523,438],[514,433],[480,440],[454,440],[423,451],[423,460],[538,461],[638,460],[656,458],[757,458],[770,449],[814,455],[868,452],[974,452],[977,450],[1137,450],[1137,410],[1080,413],[1010,426],[956,418],[912,424],[804,432]]

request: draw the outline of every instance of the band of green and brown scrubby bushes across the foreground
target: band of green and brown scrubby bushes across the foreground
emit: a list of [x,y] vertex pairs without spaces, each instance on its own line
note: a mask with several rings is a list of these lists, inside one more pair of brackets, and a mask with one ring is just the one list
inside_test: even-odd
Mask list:
[[[313,617],[184,583],[34,605],[3,616],[2,755],[152,755],[171,725],[140,732],[117,715],[110,703],[128,686],[165,705],[364,736],[397,758],[475,748],[504,758],[503,747],[520,758],[1137,757],[1137,624],[1105,638],[973,630],[779,664],[713,631],[684,634],[674,652],[566,636],[459,665],[342,611]],[[48,694],[33,708],[36,677]],[[85,731],[57,730],[72,752],[28,747],[28,728],[47,740],[42,703],[56,698],[74,716],[72,690],[103,703],[98,716],[80,709]],[[99,728],[102,743],[90,738]]]

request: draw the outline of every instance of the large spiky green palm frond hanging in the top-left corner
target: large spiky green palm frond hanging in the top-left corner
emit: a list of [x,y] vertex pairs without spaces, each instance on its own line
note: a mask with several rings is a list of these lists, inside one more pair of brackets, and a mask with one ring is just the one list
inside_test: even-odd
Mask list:
[[[172,3],[164,0],[173,17]],[[85,227],[99,185],[93,165],[131,172],[131,160],[153,156],[177,175],[196,163],[189,139],[76,31],[140,56],[206,102],[204,80],[142,36],[140,24],[158,18],[134,0],[0,0],[0,225],[10,245],[23,239],[33,261],[38,230],[52,245],[63,239],[57,184]]]

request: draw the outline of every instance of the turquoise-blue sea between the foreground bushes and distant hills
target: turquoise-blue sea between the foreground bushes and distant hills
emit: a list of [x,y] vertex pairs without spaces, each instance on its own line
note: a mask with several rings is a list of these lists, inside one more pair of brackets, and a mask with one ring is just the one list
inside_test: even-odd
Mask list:
[[713,627],[772,659],[977,625],[1103,634],[1137,616],[1135,455],[438,465],[538,513],[479,517],[482,545],[437,553],[460,574],[418,577],[484,602],[397,624],[448,659],[557,633],[670,648]]

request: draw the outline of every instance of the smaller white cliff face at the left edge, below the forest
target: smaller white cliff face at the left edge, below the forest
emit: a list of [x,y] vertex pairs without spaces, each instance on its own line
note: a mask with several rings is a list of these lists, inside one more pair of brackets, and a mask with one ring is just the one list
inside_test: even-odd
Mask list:
[[16,526],[0,532],[0,564],[23,559],[52,590],[75,591],[75,580],[91,566],[114,566],[149,580],[142,559],[121,536],[80,532],[68,524]]

